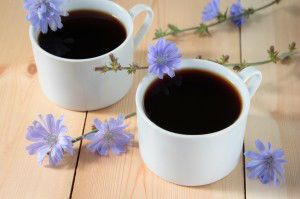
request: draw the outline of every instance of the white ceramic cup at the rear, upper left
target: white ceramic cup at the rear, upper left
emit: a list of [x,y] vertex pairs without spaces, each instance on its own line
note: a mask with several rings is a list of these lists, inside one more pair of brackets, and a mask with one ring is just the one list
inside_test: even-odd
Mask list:
[[[39,32],[31,26],[29,36],[42,90],[55,104],[70,110],[96,110],[116,103],[130,89],[132,75],[126,71],[100,74],[95,71],[95,67],[109,65],[111,53],[122,66],[132,64],[134,50],[152,24],[151,8],[138,4],[127,11],[107,0],[65,1],[63,8],[67,11],[90,9],[109,13],[124,25],[127,37],[119,47],[104,55],[89,59],[65,59],[43,50],[37,42]],[[142,12],[146,12],[146,18],[134,36],[133,21]]]

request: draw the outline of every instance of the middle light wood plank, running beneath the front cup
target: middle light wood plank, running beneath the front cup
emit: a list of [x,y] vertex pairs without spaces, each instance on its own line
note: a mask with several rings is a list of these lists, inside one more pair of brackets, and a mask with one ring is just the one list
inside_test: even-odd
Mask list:
[[[174,23],[180,27],[188,27],[199,23],[200,12],[208,1],[173,1],[173,0],[120,0],[125,8],[136,3],[151,5],[155,12],[152,30],[136,52],[135,61],[146,64],[147,46],[153,43],[154,29],[166,27]],[[223,5],[233,1],[224,1]],[[142,18],[137,19],[136,25]],[[221,25],[214,28],[212,37],[199,38],[187,35],[170,39],[176,41],[184,57],[196,57],[202,54],[206,58],[216,58],[222,54],[230,54],[233,61],[239,60],[239,32],[233,26]],[[85,132],[95,117],[107,119],[118,113],[135,111],[134,94],[138,82],[144,72],[135,75],[134,85],[129,94],[119,103],[96,112],[88,113]],[[127,121],[129,130],[135,134],[137,141],[136,118]],[[87,142],[84,142],[86,145]],[[155,146],[154,146],[155,147]],[[163,181],[151,173],[143,164],[137,147],[130,148],[123,156],[98,158],[82,148],[73,198],[244,198],[242,161],[225,179],[208,186],[182,187]]]

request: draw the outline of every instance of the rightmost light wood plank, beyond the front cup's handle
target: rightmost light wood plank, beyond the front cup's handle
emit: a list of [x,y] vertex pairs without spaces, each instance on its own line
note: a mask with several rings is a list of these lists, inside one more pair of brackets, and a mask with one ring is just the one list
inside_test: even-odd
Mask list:
[[[243,1],[259,6],[270,1]],[[242,28],[242,54],[247,60],[263,60],[266,49],[275,45],[286,50],[291,41],[300,44],[300,2],[284,0],[250,19]],[[292,64],[268,64],[257,67],[263,73],[263,83],[252,100],[246,150],[254,150],[257,138],[271,141],[275,148],[283,148],[289,163],[286,183],[279,189],[263,186],[258,181],[246,181],[247,198],[300,198],[300,60]]]

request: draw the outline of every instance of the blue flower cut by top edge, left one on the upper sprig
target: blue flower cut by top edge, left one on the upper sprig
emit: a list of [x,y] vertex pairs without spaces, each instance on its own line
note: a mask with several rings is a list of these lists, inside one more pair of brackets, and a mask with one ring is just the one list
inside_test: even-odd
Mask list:
[[202,12],[202,21],[207,22],[215,19],[220,14],[220,0],[211,0]]

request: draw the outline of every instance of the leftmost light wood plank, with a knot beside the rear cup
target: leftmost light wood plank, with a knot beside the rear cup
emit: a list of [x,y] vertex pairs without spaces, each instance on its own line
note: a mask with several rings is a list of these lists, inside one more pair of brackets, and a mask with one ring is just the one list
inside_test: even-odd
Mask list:
[[0,2],[0,198],[68,198],[77,153],[58,168],[40,166],[25,151],[25,134],[39,113],[53,113],[64,114],[70,134],[78,136],[85,113],[58,108],[43,95],[22,3]]

